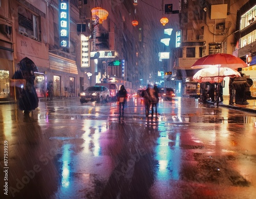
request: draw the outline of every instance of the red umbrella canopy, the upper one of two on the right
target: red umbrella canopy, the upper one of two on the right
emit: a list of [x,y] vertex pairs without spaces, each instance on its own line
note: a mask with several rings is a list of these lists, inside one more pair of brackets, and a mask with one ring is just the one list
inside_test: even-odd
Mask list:
[[191,66],[191,68],[203,69],[203,68],[209,68],[213,66],[220,67],[220,68],[227,67],[230,69],[248,67],[248,65],[239,57],[235,57],[233,55],[225,54],[225,53],[217,53],[217,54],[207,55],[205,57],[198,59]]

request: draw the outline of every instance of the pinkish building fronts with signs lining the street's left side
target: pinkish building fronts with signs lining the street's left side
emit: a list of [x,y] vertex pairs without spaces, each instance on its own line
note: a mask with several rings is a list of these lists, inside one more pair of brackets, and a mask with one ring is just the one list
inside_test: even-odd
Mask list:
[[[25,57],[38,68],[35,86],[39,97],[46,97],[49,81],[53,81],[54,97],[67,92],[78,96],[89,85],[113,79],[129,87],[138,82],[136,52],[140,52],[141,36],[139,39],[139,29],[132,26],[132,1],[0,2],[0,98],[19,97],[22,85],[12,77]],[[92,13],[98,7],[109,13],[101,21]],[[61,10],[66,8],[67,12]],[[116,61],[120,63],[110,64]]]

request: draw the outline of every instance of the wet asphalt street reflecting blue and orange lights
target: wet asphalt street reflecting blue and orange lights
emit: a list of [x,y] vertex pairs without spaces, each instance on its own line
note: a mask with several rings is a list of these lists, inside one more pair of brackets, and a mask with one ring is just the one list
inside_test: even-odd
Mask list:
[[1,198],[256,198],[255,114],[178,97],[158,109],[0,105]]

